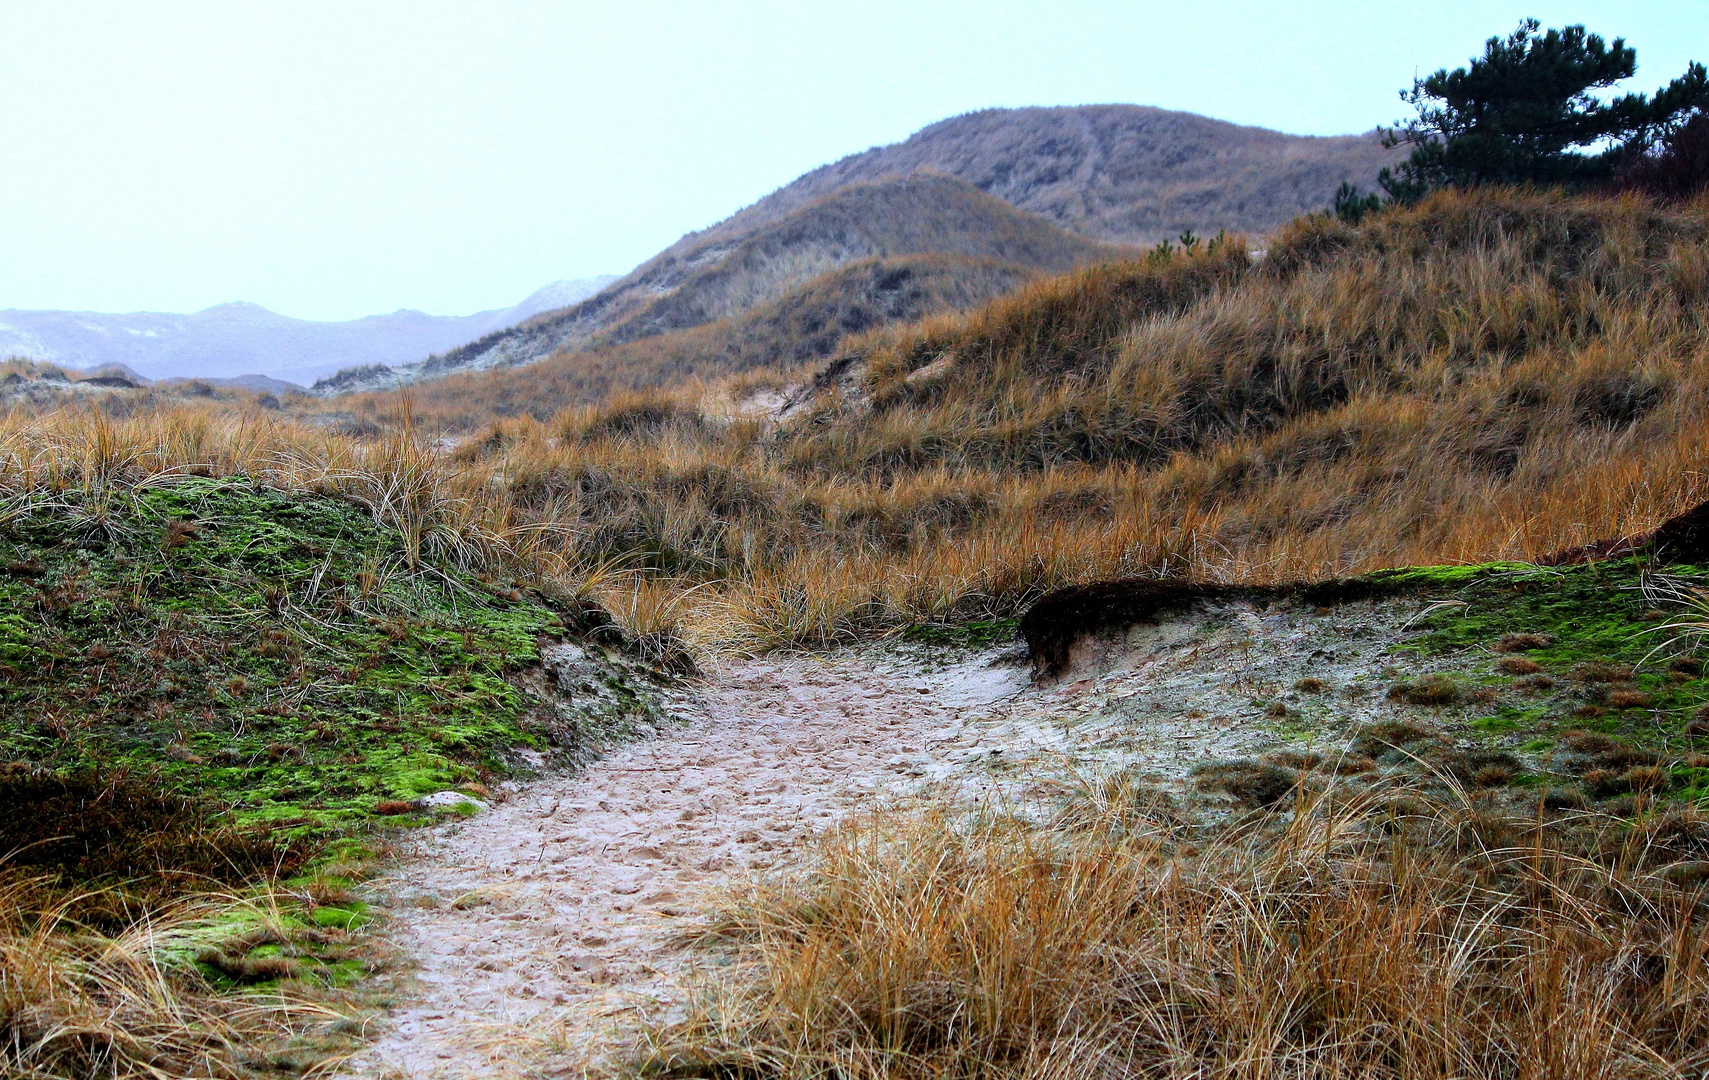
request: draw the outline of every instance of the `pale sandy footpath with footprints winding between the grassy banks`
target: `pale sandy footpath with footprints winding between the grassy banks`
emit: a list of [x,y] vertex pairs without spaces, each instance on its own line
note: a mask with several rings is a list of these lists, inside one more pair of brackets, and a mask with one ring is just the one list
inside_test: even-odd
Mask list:
[[673,930],[708,889],[988,754],[978,719],[1024,685],[991,656],[931,673],[877,651],[738,663],[689,728],[436,829],[385,883],[417,983],[355,1071],[603,1071],[624,1032],[680,1003]]

